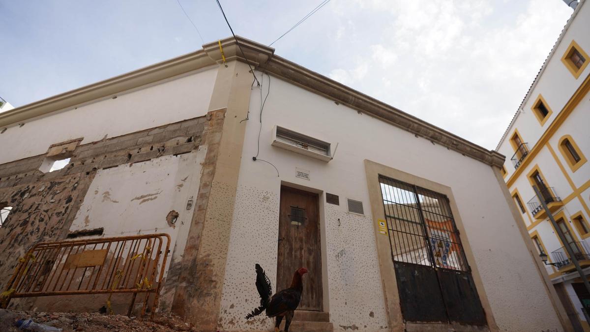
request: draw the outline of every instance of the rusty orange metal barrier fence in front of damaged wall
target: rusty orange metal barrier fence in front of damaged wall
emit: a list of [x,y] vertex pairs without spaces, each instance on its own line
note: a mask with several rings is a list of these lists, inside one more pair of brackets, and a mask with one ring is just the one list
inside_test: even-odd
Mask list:
[[12,298],[109,294],[106,305],[112,314],[111,295],[131,293],[131,315],[137,293],[146,293],[143,317],[154,293],[153,319],[169,247],[165,233],[37,243],[19,259],[0,308]]

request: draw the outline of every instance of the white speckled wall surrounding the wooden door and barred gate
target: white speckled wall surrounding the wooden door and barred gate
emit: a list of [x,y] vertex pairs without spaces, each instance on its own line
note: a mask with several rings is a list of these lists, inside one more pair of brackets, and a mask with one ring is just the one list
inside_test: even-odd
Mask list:
[[[265,94],[267,84],[265,77]],[[243,317],[259,301],[254,286],[254,263],[260,263],[273,284],[276,282],[278,202],[281,181],[286,181],[340,196],[340,206],[321,203],[324,209],[320,216],[327,238],[329,308],[326,311],[330,312],[336,330],[353,326],[364,331],[386,330],[363,164],[368,159],[452,188],[466,229],[463,236],[469,239],[476,259],[469,263],[480,271],[485,288],[480,292],[486,292],[501,330],[561,330],[516,221],[488,165],[271,77],[258,158],[276,165],[280,172],[277,177],[271,165],[252,160],[257,154],[260,91],[253,89],[252,94],[221,301],[223,329],[273,326],[273,321],[264,317],[245,324]],[[274,125],[338,142],[334,160],[326,163],[272,147]],[[311,180],[296,178],[296,167],[310,170]],[[346,197],[363,201],[366,216],[347,213]],[[325,201],[323,195],[320,201]]]

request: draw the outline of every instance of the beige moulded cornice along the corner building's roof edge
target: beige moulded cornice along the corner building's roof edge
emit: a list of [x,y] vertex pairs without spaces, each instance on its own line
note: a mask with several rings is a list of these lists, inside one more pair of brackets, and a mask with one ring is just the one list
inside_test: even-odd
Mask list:
[[[15,125],[40,116],[46,116],[58,110],[64,110],[92,100],[113,96],[117,93],[135,89],[180,74],[188,73],[222,64],[221,50],[226,61],[247,61],[254,69],[274,74],[287,82],[296,84],[350,108],[391,123],[398,128],[415,135],[430,139],[432,142],[460,152],[468,157],[488,165],[502,167],[505,157],[499,152],[490,151],[473,142],[467,141],[444,129],[422,121],[415,116],[402,112],[375,98],[360,93],[335,80],[306,69],[284,58],[274,56],[274,48],[236,36],[203,45],[201,50],[185,54],[171,60],[162,61],[142,69],[130,71],[111,79],[103,80],[69,92],[39,100],[4,113],[0,113],[0,127]],[[240,43],[238,47],[238,42]],[[242,54],[242,51],[244,52]]]

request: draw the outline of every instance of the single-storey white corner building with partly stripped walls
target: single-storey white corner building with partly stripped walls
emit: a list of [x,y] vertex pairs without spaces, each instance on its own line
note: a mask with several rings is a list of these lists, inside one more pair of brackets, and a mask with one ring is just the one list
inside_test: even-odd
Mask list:
[[[198,330],[272,330],[263,315],[244,319],[260,303],[255,263],[275,291],[309,270],[293,331],[571,330],[523,241],[503,155],[265,45],[210,43],[0,113],[0,132],[0,207],[11,208],[2,291],[19,258],[32,264],[22,274],[42,271],[39,289],[64,269],[63,257],[34,265],[47,262],[27,255],[36,243],[166,233],[148,309]],[[81,250],[94,259],[84,272],[70,261],[65,285],[99,280],[101,269],[86,268],[112,255]],[[121,259],[132,266],[155,251],[145,250]],[[18,287],[9,294],[25,298],[11,308],[96,311],[106,301]],[[116,313],[140,310],[123,295],[109,297]]]

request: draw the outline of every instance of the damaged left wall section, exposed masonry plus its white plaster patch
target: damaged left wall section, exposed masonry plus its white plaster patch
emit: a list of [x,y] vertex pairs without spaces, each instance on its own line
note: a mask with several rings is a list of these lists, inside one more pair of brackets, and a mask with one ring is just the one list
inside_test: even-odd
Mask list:
[[[200,116],[77,146],[70,162],[53,172],[38,169],[45,154],[0,164],[0,204],[13,207],[0,227],[0,248],[10,253],[0,261],[0,283],[8,281],[18,258],[34,243],[65,239],[68,233],[83,236],[97,229],[103,230],[103,237],[156,233],[156,229],[170,233],[181,239],[175,242],[172,261],[180,259],[198,204],[197,188],[207,154],[201,139],[209,119]],[[96,174],[99,178],[93,182]],[[90,185],[93,188],[88,190]],[[178,212],[173,225],[166,219],[171,211]],[[0,287],[5,289],[5,284]],[[55,310],[53,306],[60,303],[62,310],[84,311],[104,304],[104,299],[87,298],[92,301],[86,307],[76,305],[74,299],[81,298],[62,296],[14,301],[11,306]],[[121,301],[128,300],[127,296]],[[113,307],[117,301],[114,297]]]

